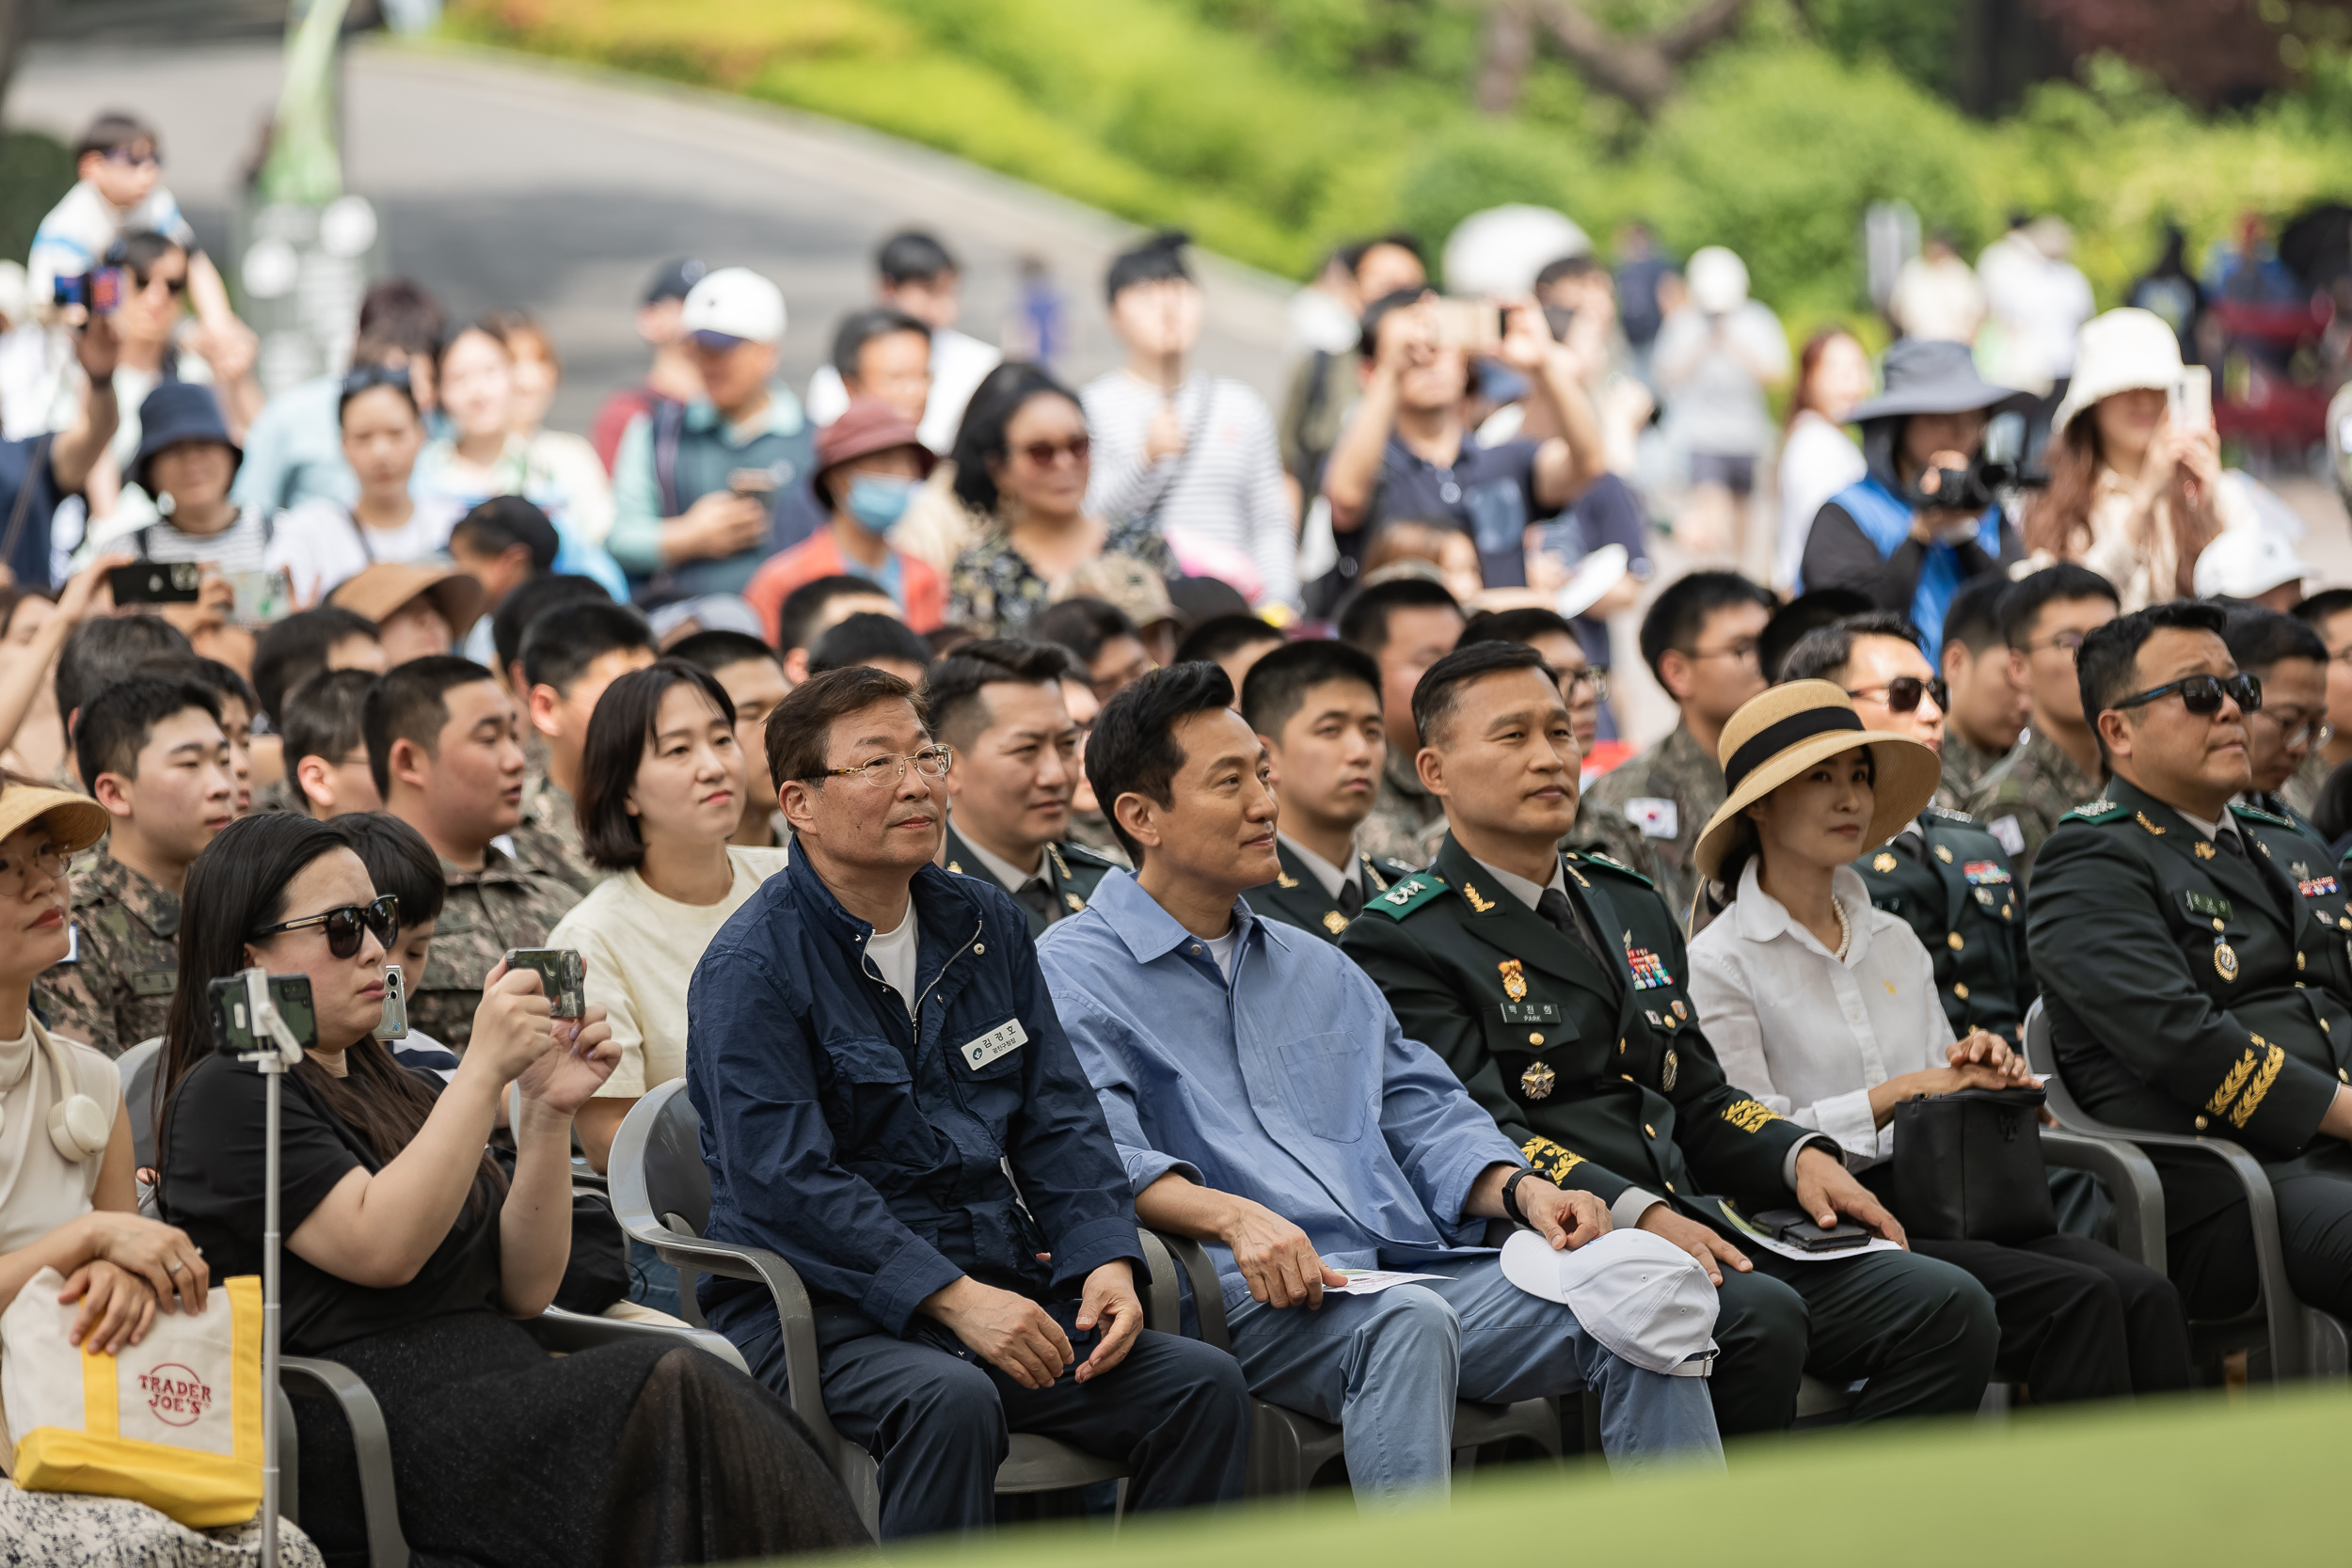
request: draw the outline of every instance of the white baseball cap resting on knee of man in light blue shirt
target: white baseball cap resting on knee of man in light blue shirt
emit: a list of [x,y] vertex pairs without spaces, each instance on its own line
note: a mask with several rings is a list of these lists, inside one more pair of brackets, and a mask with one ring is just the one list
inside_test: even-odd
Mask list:
[[1613,1229],[1555,1253],[1531,1229],[1503,1244],[1503,1279],[1562,1302],[1583,1331],[1646,1373],[1705,1378],[1715,1366],[1715,1286],[1686,1251],[1646,1229]]

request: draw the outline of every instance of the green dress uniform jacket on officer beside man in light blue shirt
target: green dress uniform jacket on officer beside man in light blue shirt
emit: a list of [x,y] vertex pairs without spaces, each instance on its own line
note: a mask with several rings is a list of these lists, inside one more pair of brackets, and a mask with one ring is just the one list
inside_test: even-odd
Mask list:
[[1341,950],[1538,1173],[1604,1204],[1639,1187],[1738,1239],[1710,1192],[1788,1204],[1788,1159],[1818,1133],[1724,1079],[1684,990],[1682,931],[1649,882],[1590,853],[1564,867],[1606,973],[1451,835],[1428,872],[1364,905]]

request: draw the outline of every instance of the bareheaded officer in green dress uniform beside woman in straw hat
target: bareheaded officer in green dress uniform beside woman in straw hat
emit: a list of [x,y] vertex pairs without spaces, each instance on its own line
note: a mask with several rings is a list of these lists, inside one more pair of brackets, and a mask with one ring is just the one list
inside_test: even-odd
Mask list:
[[1559,853],[1578,757],[1541,654],[1461,649],[1423,677],[1414,715],[1416,766],[1449,832],[1341,950],[1536,1171],[1595,1192],[1618,1225],[1668,1237],[1719,1281],[1717,1425],[1788,1427],[1804,1371],[1867,1380],[1856,1420],[1976,1408],[1999,1340],[1983,1286],[1900,1248],[1797,1260],[1755,1239],[1755,1215],[1780,1208],[1891,1239],[1900,1227],[1832,1140],[1724,1081],[1684,990],[1682,933],[1649,882]]

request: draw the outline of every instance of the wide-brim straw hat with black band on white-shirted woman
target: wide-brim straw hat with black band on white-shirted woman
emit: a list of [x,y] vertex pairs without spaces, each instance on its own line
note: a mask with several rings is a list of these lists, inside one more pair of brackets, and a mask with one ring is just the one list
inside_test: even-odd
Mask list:
[[1788,682],[1752,696],[1724,724],[1724,741],[1715,752],[1724,764],[1726,795],[1691,853],[1698,875],[1717,879],[1748,806],[1816,764],[1863,745],[1870,748],[1875,806],[1856,853],[1872,851],[1903,832],[1903,823],[1936,799],[1936,785],[1943,780],[1936,752],[1910,736],[1863,729],[1853,698],[1835,682]]

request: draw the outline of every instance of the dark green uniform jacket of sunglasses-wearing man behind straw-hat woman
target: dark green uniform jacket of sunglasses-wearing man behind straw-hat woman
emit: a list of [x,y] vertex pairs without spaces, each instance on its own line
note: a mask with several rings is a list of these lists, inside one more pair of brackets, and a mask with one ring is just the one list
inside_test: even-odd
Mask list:
[[1964,811],[1929,806],[1919,832],[1853,863],[1870,903],[1903,919],[1936,959],[1936,997],[1952,1032],[1992,1030],[2023,1044],[2034,1004],[2034,966],[2025,957],[2025,891],[2009,856]]

